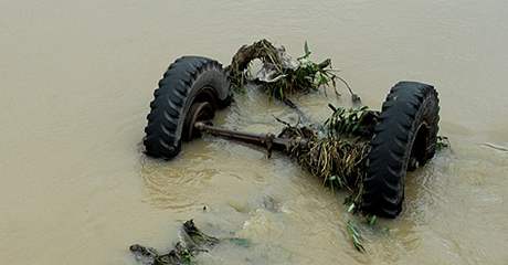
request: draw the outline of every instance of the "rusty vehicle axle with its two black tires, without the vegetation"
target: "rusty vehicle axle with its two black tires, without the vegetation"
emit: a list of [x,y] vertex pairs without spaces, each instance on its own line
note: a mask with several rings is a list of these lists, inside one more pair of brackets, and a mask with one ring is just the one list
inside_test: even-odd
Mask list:
[[[251,134],[213,126],[215,110],[226,107],[232,95],[229,74],[216,61],[200,56],[177,60],[154,93],[145,128],[146,153],[171,159],[180,152],[182,140],[190,141],[202,134],[265,147],[268,157],[272,150],[289,153],[295,144],[316,147],[307,136],[289,138],[284,134]],[[377,113],[379,119],[371,120],[372,129],[362,149],[367,153],[352,167],[362,170],[359,181],[363,211],[385,218],[400,214],[408,170],[425,165],[436,151],[438,110],[437,92],[432,85],[405,81],[390,89]],[[316,151],[313,159],[316,157],[318,163],[327,162],[330,170],[343,167],[348,169],[345,174],[350,173],[351,167],[335,161],[351,158],[352,149],[334,157],[320,153],[324,149],[319,146],[310,149],[307,153]]]

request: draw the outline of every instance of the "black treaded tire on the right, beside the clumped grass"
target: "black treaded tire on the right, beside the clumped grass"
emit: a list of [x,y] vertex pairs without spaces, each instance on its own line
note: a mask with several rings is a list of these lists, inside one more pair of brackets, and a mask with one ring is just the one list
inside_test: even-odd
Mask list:
[[409,165],[424,165],[435,153],[438,112],[433,86],[400,82],[392,87],[371,140],[363,211],[383,218],[399,215]]

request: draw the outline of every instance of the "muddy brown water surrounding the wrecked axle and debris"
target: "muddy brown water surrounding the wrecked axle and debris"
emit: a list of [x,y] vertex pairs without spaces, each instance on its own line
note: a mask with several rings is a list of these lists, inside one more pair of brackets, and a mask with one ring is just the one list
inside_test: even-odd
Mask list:
[[[201,264],[507,264],[506,1],[0,1],[2,264],[136,264],[182,221],[242,236]],[[282,155],[204,138],[171,162],[140,145],[152,91],[182,54],[227,63],[258,38],[316,59],[379,107],[399,80],[434,84],[452,151],[409,177],[402,215],[351,246],[346,193]],[[298,103],[316,120],[347,97]],[[287,108],[255,92],[218,123],[276,131]],[[203,212],[203,206],[207,211]],[[383,227],[388,227],[385,232]]]

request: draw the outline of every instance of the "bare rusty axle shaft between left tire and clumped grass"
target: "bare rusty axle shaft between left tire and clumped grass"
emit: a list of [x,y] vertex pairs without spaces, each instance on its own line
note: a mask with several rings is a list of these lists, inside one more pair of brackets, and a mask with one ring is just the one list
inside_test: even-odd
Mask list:
[[[218,128],[211,126],[203,121],[198,121],[194,124],[194,128],[201,132],[205,132],[213,136],[219,136],[226,139],[233,139],[246,144],[256,145],[260,147],[265,147],[268,151],[268,157],[272,155],[272,150],[278,151],[288,151],[292,146],[292,140],[287,138],[276,137],[274,134],[251,134],[236,130],[227,130],[223,128]],[[306,142],[305,139],[300,140]]]

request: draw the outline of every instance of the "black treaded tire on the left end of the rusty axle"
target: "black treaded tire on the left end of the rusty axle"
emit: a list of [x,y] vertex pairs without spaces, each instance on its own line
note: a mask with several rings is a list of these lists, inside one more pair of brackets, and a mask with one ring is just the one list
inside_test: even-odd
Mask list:
[[216,109],[227,106],[232,97],[222,65],[200,56],[174,61],[154,96],[144,144],[148,156],[165,159],[180,152],[184,121],[194,103],[209,102]]

